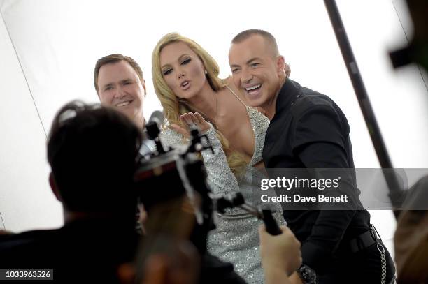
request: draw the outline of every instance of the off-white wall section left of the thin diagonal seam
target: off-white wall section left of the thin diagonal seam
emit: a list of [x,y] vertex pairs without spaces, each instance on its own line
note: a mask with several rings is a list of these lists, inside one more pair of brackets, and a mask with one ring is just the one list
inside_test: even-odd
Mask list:
[[48,189],[45,132],[3,20],[0,51],[0,225],[55,227],[62,213]]

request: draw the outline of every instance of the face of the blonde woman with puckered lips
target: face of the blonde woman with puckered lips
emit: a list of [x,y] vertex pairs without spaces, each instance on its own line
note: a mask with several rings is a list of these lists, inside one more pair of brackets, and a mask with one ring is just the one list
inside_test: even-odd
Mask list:
[[201,59],[185,43],[166,45],[159,54],[162,76],[178,98],[199,94],[208,81]]

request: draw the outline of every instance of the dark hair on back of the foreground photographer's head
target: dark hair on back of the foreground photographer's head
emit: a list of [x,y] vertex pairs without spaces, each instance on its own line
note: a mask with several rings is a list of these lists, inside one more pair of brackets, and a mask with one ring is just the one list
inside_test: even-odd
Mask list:
[[78,100],[64,105],[48,137],[48,162],[64,207],[111,212],[131,206],[141,140],[138,128],[116,110]]

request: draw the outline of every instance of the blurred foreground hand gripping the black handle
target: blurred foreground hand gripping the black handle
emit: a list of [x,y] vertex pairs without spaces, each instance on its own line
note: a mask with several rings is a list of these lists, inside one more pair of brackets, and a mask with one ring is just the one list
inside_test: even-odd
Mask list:
[[259,227],[260,256],[266,277],[271,271],[284,271],[290,276],[301,265],[300,241],[288,227],[280,226],[280,230],[282,234],[272,236],[264,225]]

